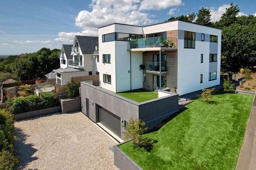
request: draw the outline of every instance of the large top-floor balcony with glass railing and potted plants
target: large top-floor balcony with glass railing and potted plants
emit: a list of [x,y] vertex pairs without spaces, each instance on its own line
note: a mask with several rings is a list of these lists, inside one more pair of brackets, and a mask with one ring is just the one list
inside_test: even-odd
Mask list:
[[175,51],[177,50],[177,38],[152,37],[131,40],[128,42],[129,51]]

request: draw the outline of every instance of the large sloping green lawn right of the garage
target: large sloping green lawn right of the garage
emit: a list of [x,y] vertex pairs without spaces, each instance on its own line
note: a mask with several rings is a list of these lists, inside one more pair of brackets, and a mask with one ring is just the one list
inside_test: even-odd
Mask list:
[[235,169],[253,95],[216,94],[212,104],[194,100],[158,131],[151,151],[120,145],[143,170]]

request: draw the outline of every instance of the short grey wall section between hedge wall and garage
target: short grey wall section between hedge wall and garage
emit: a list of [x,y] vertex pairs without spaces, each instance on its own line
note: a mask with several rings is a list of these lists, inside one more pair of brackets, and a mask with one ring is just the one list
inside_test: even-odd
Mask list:
[[68,100],[61,99],[60,105],[62,108],[62,113],[81,111],[81,97],[72,98],[72,99],[68,99]]

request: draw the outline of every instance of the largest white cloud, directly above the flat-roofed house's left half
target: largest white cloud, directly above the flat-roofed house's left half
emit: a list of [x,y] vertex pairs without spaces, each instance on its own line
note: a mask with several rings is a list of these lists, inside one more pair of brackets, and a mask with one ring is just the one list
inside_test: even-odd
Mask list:
[[[176,0],[174,0],[176,1]],[[180,1],[180,0],[177,0]],[[90,11],[80,11],[75,25],[81,32],[60,32],[55,41],[73,42],[75,35],[98,36],[98,27],[110,23],[148,25],[156,23],[154,15],[139,11],[140,0],[92,0]]]

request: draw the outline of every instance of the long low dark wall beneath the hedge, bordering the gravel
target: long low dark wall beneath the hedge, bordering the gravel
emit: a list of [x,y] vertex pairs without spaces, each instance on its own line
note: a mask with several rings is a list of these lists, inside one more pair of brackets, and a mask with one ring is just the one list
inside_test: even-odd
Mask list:
[[49,115],[49,114],[53,114],[53,113],[60,113],[60,112],[61,112],[61,107],[55,106],[52,108],[45,108],[45,109],[40,109],[40,110],[28,111],[25,113],[14,114],[13,119],[15,121],[20,121],[20,120],[24,120],[24,119],[29,119],[29,118],[43,116],[43,115]]

